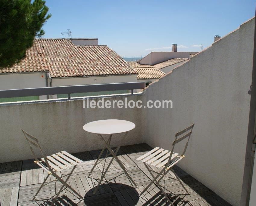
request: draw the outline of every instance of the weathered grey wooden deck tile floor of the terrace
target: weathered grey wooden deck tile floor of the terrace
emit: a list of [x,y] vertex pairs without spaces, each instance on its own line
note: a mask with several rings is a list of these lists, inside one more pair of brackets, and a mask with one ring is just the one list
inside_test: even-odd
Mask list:
[[[151,147],[147,144],[137,144],[122,146],[118,154],[118,157],[138,185],[137,189],[133,188],[123,170],[116,161],[113,161],[105,176],[104,184],[100,186],[96,195],[92,195],[93,188],[95,187],[93,180],[87,176],[100,150],[74,154],[84,162],[76,167],[68,182],[71,187],[79,191],[84,199],[80,200],[68,189],[64,189],[56,205],[168,205],[166,198],[156,186],[148,189],[144,196],[139,197],[138,195],[148,185],[151,176],[142,162],[137,161],[136,158],[149,150],[151,150]],[[107,162],[110,159],[111,157],[108,157]],[[100,177],[101,173],[99,170],[102,167],[103,165],[99,165],[99,168],[95,168],[92,175],[95,181]],[[152,169],[157,171],[157,168]],[[180,196],[175,202],[176,205],[230,205],[185,171],[178,167],[175,170],[190,192],[190,195]],[[67,173],[69,173],[68,170],[61,171],[61,175]],[[41,168],[36,167],[33,160],[0,163],[0,205],[51,204],[55,194],[54,182],[44,186],[41,192],[39,192],[38,198],[40,201],[31,201],[46,175]],[[173,179],[171,174],[167,175],[161,182],[161,185],[164,185],[164,181],[166,189],[173,193],[173,195],[170,194],[170,197],[176,197],[183,191],[180,183]],[[57,182],[56,187],[58,191],[61,184]]]

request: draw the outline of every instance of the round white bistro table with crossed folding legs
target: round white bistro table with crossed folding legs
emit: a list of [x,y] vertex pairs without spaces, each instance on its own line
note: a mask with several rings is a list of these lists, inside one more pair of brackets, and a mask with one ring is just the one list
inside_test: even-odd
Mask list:
[[[110,165],[111,165],[111,163],[114,159],[117,161],[117,163],[123,169],[123,171],[126,173],[127,177],[132,181],[134,186],[137,187],[136,183],[133,181],[130,174],[127,172],[123,163],[120,161],[120,159],[116,155],[118,150],[120,149],[120,146],[122,145],[123,140],[126,137],[126,135],[128,134],[129,131],[133,130],[134,128],[135,128],[135,124],[133,122],[126,121],[126,120],[120,120],[120,119],[105,119],[105,120],[92,121],[92,122],[89,122],[89,123],[87,123],[86,125],[83,126],[83,130],[85,130],[87,132],[90,132],[90,133],[98,134],[101,137],[101,139],[104,140],[104,142],[105,142],[105,146],[101,150],[101,153],[98,156],[97,161],[93,165],[92,170],[90,171],[90,173],[88,175],[88,177],[89,177],[92,174],[92,171],[94,170],[95,166],[98,163],[100,163],[102,160],[105,159],[103,171],[102,171],[102,174],[101,174],[101,179],[98,182],[98,185],[96,186],[95,190],[93,191],[93,194],[95,194],[97,192],[101,181],[105,177],[105,174],[107,173],[108,168],[110,167]],[[125,133],[125,134],[123,135],[123,137],[119,141],[119,145],[117,146],[117,148],[115,148],[114,151],[113,151],[113,149],[111,149],[111,147],[110,147],[110,142],[111,142],[112,135],[113,134],[120,134],[120,133]],[[102,137],[102,134],[109,134],[109,137],[108,137],[107,141]],[[104,157],[104,159],[99,161],[99,159],[101,158],[101,155],[102,155],[102,153],[104,152],[105,149],[107,149],[107,154]],[[110,152],[110,154],[108,154],[108,151]],[[108,164],[107,168],[105,169],[106,158],[109,155],[112,155],[112,158],[111,158],[111,161]],[[104,171],[104,169],[105,169],[105,171]]]

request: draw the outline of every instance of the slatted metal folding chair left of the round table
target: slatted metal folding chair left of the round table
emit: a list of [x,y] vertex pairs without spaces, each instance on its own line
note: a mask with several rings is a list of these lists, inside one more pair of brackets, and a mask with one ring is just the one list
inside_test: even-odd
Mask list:
[[[43,168],[45,171],[48,172],[47,177],[45,178],[44,182],[42,183],[42,185],[39,187],[38,191],[36,192],[36,195],[39,193],[39,191],[41,190],[42,186],[51,183],[51,182],[55,182],[55,198],[52,201],[51,205],[54,204],[54,202],[57,200],[58,195],[60,194],[60,192],[63,190],[63,188],[66,186],[67,188],[69,188],[70,190],[72,190],[78,197],[83,198],[78,192],[76,192],[70,185],[67,184],[67,180],[70,178],[71,174],[73,173],[74,169],[76,168],[76,165],[83,162],[82,160],[76,158],[75,156],[69,154],[66,151],[62,151],[62,152],[58,152],[56,154],[53,155],[49,155],[49,156],[45,156],[41,146],[38,143],[38,140],[36,137],[33,137],[32,135],[28,134],[27,132],[25,132],[24,130],[23,134],[25,135],[27,142],[30,146],[30,150],[35,158],[35,163],[37,165],[39,165],[39,167]],[[34,147],[37,147],[40,150],[40,153],[42,154],[43,158],[37,158],[35,152],[34,152]],[[73,168],[72,168],[73,167]],[[72,170],[70,171],[69,174],[65,175],[67,176],[66,180],[64,181],[62,178],[60,177],[57,172],[62,171],[63,169],[68,169],[68,168],[72,168]],[[48,182],[45,184],[46,180],[48,179],[48,177],[52,175],[53,177],[55,177],[54,180]],[[64,176],[64,177],[65,177]],[[61,189],[59,190],[59,192],[56,194],[56,181],[60,181],[62,183]],[[33,199],[31,201],[33,201],[36,197],[36,195],[33,197]],[[38,199],[38,198],[37,198]],[[38,199],[39,200],[39,199]]]

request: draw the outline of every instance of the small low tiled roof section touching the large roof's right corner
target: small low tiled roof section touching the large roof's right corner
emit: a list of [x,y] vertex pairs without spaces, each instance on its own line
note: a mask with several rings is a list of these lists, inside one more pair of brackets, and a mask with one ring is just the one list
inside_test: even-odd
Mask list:
[[136,68],[136,70],[139,72],[137,79],[158,79],[165,75],[161,70],[152,67]]

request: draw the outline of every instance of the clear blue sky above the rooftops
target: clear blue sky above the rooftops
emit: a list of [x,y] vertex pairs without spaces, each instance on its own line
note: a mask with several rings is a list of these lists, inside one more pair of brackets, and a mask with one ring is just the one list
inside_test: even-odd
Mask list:
[[[46,0],[44,38],[98,38],[122,57],[151,51],[200,51],[255,15],[255,1]],[[193,46],[194,45],[194,46]]]

